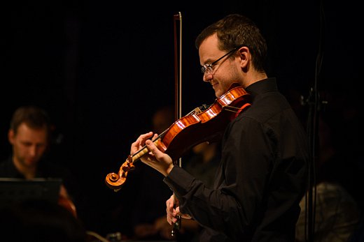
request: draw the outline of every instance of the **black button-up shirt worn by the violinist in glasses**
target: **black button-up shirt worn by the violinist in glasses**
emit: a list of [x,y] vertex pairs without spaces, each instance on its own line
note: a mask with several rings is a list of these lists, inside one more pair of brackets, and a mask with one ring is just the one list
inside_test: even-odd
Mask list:
[[246,91],[251,107],[225,129],[214,188],[178,166],[164,181],[181,212],[204,227],[200,241],[294,241],[310,159],[307,133],[274,78]]

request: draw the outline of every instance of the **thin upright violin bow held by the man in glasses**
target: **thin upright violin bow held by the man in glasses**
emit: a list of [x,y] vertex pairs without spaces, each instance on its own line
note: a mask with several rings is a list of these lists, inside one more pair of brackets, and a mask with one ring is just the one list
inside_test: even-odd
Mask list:
[[[176,120],[182,117],[182,15],[173,16],[174,19],[174,116]],[[179,51],[177,51],[177,25],[179,21]],[[180,167],[182,158],[179,158]],[[176,197],[174,197],[176,199]],[[172,237],[176,236],[176,230],[181,228],[181,215],[177,216],[177,221],[172,224]]]

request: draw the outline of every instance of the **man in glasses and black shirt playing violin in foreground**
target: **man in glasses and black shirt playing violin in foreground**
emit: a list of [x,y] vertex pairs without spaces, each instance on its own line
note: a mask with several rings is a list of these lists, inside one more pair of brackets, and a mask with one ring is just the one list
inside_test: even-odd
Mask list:
[[265,73],[265,39],[247,17],[228,15],[195,43],[203,80],[217,98],[233,83],[251,96],[251,107],[225,128],[213,188],[160,151],[152,141],[157,134],[140,135],[131,153],[146,145],[149,153],[141,160],[163,174],[174,192],[166,202],[167,221],[172,225],[177,215],[196,220],[203,227],[200,241],[295,241],[309,144],[275,78]]

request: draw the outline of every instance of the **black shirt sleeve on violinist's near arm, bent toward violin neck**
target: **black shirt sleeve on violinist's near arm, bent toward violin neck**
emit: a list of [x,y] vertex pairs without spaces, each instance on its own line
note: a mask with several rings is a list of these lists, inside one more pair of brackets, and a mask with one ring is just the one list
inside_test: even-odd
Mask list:
[[164,181],[179,199],[181,212],[190,214],[204,227],[228,235],[246,232],[255,222],[252,218],[259,217],[256,208],[262,203],[269,177],[272,140],[268,133],[251,119],[230,123],[214,189],[181,167],[174,167]]

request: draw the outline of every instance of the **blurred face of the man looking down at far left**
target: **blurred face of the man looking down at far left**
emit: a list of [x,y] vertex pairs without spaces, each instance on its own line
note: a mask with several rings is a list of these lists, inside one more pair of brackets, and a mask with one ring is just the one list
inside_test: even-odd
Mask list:
[[48,144],[47,129],[30,128],[20,124],[17,132],[9,130],[8,139],[13,146],[13,161],[16,166],[35,167],[43,156]]

